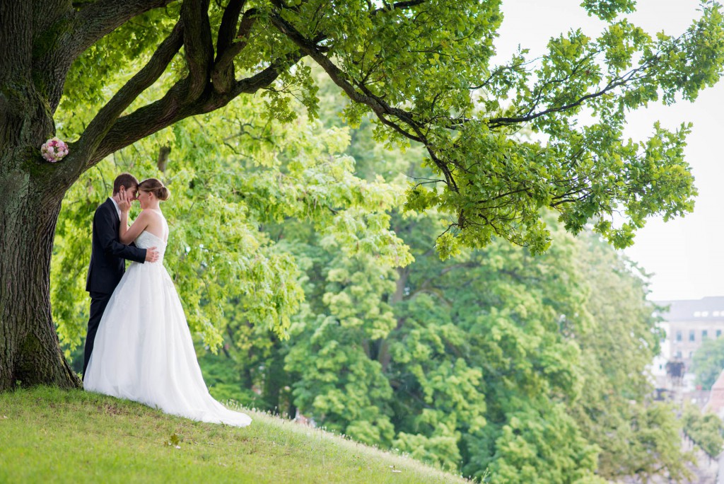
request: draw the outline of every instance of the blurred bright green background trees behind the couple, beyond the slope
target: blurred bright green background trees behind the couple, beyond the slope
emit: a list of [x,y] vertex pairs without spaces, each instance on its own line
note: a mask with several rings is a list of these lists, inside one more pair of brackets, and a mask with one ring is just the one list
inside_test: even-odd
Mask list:
[[429,178],[416,149],[375,147],[369,121],[341,128],[328,102],[319,122],[265,109],[181,122],[74,186],[53,278],[68,349],[85,330],[90,214],[114,172],[155,175],[170,146],[166,264],[217,398],[494,482],[683,475],[674,414],[647,402],[660,335],[630,262],[550,214],[544,255],[494,241],[442,261],[445,215],[401,209],[409,177]]

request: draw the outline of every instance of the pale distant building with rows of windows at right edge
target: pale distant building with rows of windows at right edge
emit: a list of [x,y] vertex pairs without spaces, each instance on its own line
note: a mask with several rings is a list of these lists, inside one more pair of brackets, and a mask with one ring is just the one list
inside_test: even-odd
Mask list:
[[[691,359],[707,338],[720,338],[724,334],[724,296],[703,299],[657,301],[665,309],[660,316],[660,327],[666,335],[661,343],[661,354],[654,359],[652,373],[658,390],[692,393],[694,373],[691,372]],[[672,370],[680,370],[683,375],[672,375]],[[678,378],[678,380],[677,380]],[[709,388],[702,388],[708,391]],[[697,402],[703,404],[704,402]]]

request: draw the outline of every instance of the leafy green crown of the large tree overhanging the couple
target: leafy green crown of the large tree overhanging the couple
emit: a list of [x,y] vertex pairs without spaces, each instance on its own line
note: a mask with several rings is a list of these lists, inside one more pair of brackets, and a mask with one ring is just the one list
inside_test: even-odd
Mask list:
[[[539,59],[522,49],[493,64],[500,3],[172,2],[126,22],[77,59],[59,126],[70,138],[80,134],[86,121],[68,114],[100,104],[109,79],[129,78],[147,59],[153,67],[151,52],[175,22],[169,39],[181,28],[184,50],[159,75],[160,91],[130,102],[91,164],[243,92],[261,92],[277,120],[295,118],[292,96],[316,117],[319,86],[308,59],[352,101],[342,112],[350,125],[371,114],[377,141],[424,147],[418,164],[429,176],[409,185],[405,209],[447,215],[437,241],[443,258],[495,237],[541,253],[550,243],[544,207],[572,233],[592,222],[618,247],[629,245],[649,216],[691,211],[696,189],[683,159],[689,125],[654,125],[640,141],[624,139],[622,130],[631,110],[695,99],[719,79],[719,4],[703,4],[701,17],[673,37],[649,35],[623,18],[630,0],[584,1],[607,23],[598,38],[572,29],[551,38]],[[531,135],[518,136],[521,129]]]

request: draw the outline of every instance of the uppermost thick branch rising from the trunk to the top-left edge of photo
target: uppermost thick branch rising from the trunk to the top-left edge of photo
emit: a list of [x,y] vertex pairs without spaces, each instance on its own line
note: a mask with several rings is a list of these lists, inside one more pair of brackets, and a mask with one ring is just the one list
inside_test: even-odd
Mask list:
[[88,49],[94,43],[116,30],[128,20],[165,7],[174,0],[98,0],[76,13],[78,26],[73,43],[72,57]]

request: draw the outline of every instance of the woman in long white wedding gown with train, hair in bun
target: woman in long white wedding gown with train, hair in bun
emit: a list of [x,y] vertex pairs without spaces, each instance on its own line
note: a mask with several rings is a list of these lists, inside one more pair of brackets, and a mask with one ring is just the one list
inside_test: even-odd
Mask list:
[[181,301],[161,264],[169,226],[159,202],[168,198],[168,189],[156,178],[139,183],[141,212],[130,228],[130,204],[119,204],[121,243],[156,246],[159,261],[132,262],[118,283],[98,327],[83,387],[167,414],[244,427],[251,418],[219,404],[206,389]]

